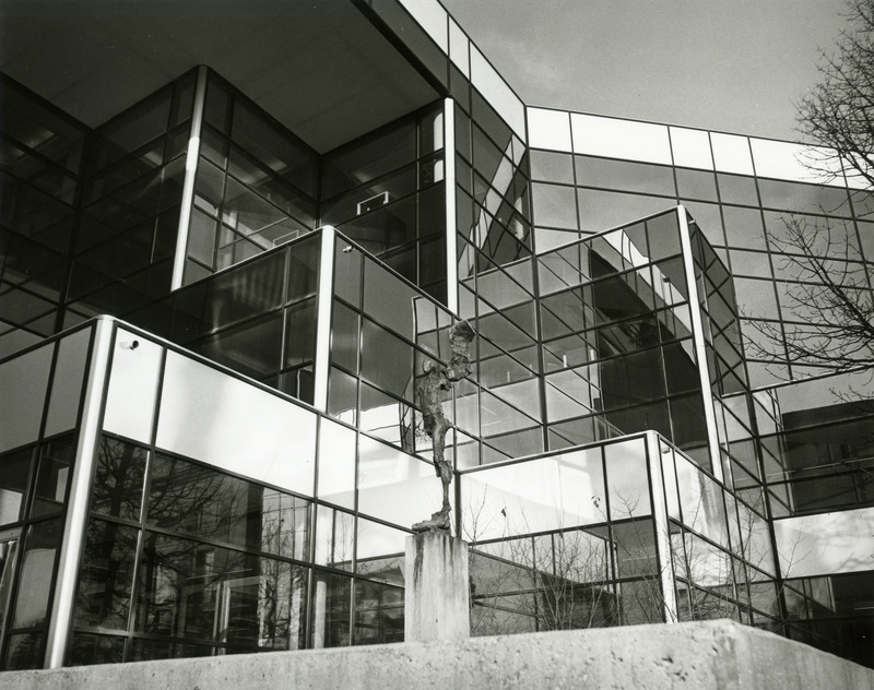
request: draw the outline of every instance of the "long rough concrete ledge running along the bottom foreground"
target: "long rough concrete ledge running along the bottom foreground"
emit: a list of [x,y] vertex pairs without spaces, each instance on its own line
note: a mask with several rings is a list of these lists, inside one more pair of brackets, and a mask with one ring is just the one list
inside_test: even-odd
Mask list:
[[874,670],[732,621],[0,673],[0,690],[874,689]]

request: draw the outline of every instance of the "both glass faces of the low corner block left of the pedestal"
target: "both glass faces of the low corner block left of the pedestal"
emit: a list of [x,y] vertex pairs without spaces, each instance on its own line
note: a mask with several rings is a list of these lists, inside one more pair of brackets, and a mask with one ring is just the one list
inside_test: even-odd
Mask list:
[[43,666],[76,463],[91,488],[67,665],[402,640],[403,542],[440,500],[430,464],[144,332],[102,332],[93,456],[76,457],[92,329],[0,364],[26,391],[0,401],[2,667]]

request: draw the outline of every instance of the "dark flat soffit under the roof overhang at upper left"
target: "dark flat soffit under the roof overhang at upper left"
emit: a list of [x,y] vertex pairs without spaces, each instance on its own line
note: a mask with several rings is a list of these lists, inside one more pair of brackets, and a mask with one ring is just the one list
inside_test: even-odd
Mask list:
[[0,2],[0,71],[90,127],[197,64],[321,152],[438,96],[349,0]]

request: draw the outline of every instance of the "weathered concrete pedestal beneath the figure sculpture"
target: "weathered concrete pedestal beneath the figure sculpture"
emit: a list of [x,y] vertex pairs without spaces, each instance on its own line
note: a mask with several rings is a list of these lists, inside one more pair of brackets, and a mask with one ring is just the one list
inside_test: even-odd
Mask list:
[[404,640],[463,640],[471,633],[468,544],[448,532],[406,538]]

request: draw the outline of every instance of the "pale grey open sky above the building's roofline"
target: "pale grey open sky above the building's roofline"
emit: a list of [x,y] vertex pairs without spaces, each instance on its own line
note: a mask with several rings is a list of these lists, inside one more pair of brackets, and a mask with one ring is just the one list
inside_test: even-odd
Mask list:
[[798,140],[843,0],[441,0],[522,100]]

